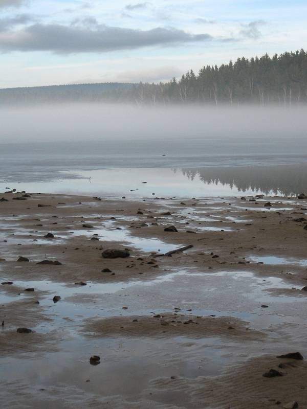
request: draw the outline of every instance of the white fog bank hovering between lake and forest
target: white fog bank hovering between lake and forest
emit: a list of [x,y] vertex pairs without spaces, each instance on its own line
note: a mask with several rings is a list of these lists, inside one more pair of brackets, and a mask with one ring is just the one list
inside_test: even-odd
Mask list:
[[306,107],[138,107],[107,104],[1,108],[1,143],[217,138],[301,139]]

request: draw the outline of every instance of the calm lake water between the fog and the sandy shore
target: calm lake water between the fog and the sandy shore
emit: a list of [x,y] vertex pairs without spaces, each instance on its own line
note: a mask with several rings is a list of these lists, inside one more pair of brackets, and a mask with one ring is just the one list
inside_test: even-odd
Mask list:
[[303,139],[31,143],[0,148],[2,192],[9,187],[128,198],[290,196],[307,191]]

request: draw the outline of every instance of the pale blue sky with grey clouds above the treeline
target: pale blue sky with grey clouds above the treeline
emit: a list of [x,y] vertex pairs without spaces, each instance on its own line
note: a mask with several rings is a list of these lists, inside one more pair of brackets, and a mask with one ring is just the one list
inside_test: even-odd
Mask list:
[[306,0],[0,0],[0,88],[159,82],[306,48]]

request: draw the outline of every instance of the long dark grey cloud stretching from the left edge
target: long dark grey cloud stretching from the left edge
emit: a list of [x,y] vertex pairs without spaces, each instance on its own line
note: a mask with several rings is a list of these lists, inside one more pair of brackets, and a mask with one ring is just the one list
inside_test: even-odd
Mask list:
[[99,25],[95,28],[33,24],[0,33],[0,51],[51,51],[58,54],[104,53],[208,41],[209,34],[190,34],[174,28],[136,30]]

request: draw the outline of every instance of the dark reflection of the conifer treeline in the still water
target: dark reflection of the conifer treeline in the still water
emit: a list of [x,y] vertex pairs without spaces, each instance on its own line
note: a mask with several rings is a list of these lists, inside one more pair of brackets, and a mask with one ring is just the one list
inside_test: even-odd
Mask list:
[[307,164],[186,168],[182,173],[191,180],[199,177],[206,184],[229,185],[243,194],[252,190],[295,196],[307,190]]

